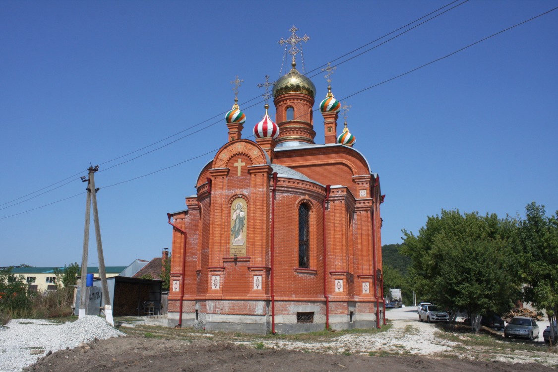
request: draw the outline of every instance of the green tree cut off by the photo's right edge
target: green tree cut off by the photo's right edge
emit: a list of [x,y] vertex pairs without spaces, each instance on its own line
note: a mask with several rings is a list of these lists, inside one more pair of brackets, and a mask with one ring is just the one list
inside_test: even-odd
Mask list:
[[[558,211],[547,217],[545,206],[526,206],[526,219],[519,221],[519,250],[523,254],[523,299],[549,318],[558,315]],[[554,333],[554,332],[552,332]],[[553,343],[556,342],[554,335]]]

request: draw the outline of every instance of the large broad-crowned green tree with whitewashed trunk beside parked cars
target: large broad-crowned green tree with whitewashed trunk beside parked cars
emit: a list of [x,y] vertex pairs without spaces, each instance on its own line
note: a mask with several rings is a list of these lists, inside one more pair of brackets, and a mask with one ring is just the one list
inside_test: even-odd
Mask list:
[[403,230],[401,252],[411,258],[410,280],[422,298],[465,310],[478,331],[483,313],[508,310],[519,293],[517,223],[496,214],[442,210],[415,236]]

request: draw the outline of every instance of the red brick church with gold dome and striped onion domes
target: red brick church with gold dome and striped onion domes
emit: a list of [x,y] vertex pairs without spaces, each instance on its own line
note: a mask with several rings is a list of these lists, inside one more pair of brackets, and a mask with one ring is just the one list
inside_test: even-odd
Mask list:
[[[291,31],[287,42],[304,40]],[[330,87],[315,142],[316,88],[291,54],[273,85],[275,122],[266,104],[254,141],[242,138],[235,98],[228,142],[200,171],[187,210],[169,214],[171,323],[290,334],[383,322],[379,177],[347,123],[338,133]]]

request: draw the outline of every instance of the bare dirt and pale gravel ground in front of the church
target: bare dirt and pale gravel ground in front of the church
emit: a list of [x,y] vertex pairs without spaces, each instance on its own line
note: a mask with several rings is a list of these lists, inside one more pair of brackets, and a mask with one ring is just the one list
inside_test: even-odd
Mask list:
[[[488,338],[489,344],[501,342],[502,346],[471,346],[470,341],[478,336],[469,339],[466,334],[450,333],[453,339],[444,339],[436,325],[419,323],[411,308],[387,315],[403,319],[392,321],[388,331],[376,334],[321,339],[196,334],[137,325],[127,331],[131,336],[55,352],[26,371],[550,372],[558,366],[558,355],[543,347],[529,349],[531,344],[523,341]],[[181,339],[176,339],[177,332]],[[515,346],[521,347],[512,349]],[[532,363],[535,360],[540,363]]]

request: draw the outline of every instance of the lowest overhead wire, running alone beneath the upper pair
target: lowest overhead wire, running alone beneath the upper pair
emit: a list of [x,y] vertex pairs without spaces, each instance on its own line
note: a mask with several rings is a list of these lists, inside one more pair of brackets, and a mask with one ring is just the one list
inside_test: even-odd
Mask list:
[[[352,96],[361,94],[361,93],[363,93],[364,91],[367,91],[367,90],[372,89],[372,88],[376,88],[376,87],[379,86],[379,85],[388,83],[389,81],[393,81],[393,80],[395,80],[395,79],[401,78],[402,76],[406,76],[406,75],[408,75],[408,74],[411,74],[411,73],[413,73],[413,72],[415,72],[415,71],[417,71],[417,70],[420,70],[420,69],[422,69],[422,68],[424,68],[424,67],[426,67],[426,66],[429,66],[429,65],[431,65],[431,64],[434,64],[435,62],[439,62],[439,61],[444,60],[444,59],[446,59],[446,58],[448,58],[448,57],[450,57],[450,56],[453,56],[453,55],[455,55],[455,54],[458,54],[459,52],[464,51],[464,50],[466,50],[466,49],[468,49],[468,48],[470,48],[470,47],[472,47],[472,46],[474,46],[474,45],[477,45],[477,44],[479,44],[480,42],[486,41],[486,40],[488,40],[489,38],[492,38],[492,37],[494,37],[494,36],[497,36],[497,35],[499,35],[499,34],[501,34],[501,33],[503,33],[503,32],[512,30],[513,28],[516,28],[516,27],[518,27],[518,26],[521,26],[521,25],[523,25],[523,24],[525,24],[525,23],[527,23],[527,22],[531,22],[531,21],[535,20],[536,18],[539,18],[539,17],[542,17],[542,16],[544,16],[544,15],[547,15],[547,14],[550,13],[550,12],[556,11],[556,9],[558,9],[558,7],[552,8],[552,9],[550,9],[549,11],[546,11],[546,12],[543,12],[543,13],[537,15],[537,16],[531,17],[531,18],[529,18],[528,20],[525,20],[525,21],[516,23],[516,24],[513,25],[513,26],[504,28],[504,29],[501,30],[501,31],[495,32],[495,33],[493,33],[492,35],[489,35],[489,36],[484,37],[484,38],[482,38],[482,39],[480,39],[480,40],[478,40],[478,41],[475,41],[475,42],[473,42],[473,43],[471,43],[471,44],[469,44],[469,45],[466,45],[466,46],[464,46],[464,47],[462,47],[462,48],[460,48],[460,49],[458,49],[458,50],[456,50],[456,51],[453,51],[453,52],[451,52],[451,53],[449,53],[449,54],[447,54],[447,55],[445,55],[445,56],[442,56],[442,57],[439,57],[439,58],[437,58],[437,59],[435,59],[435,60],[432,60],[432,61],[430,61],[430,62],[427,62],[426,64],[421,65],[421,66],[419,66],[419,67],[415,67],[414,69],[408,70],[408,71],[406,71],[405,73],[399,74],[399,75],[397,75],[397,76],[393,76],[393,78],[389,78],[389,79],[387,79],[387,80],[381,81],[380,83],[377,83],[377,84],[368,86],[367,88],[364,88],[364,89],[361,89],[361,90],[359,90],[359,91],[357,91],[357,92],[355,92],[355,93],[353,93],[353,94],[350,94],[350,95],[346,96],[345,98],[342,98],[341,100],[344,100],[344,99],[350,98],[350,97],[352,97]],[[254,104],[254,105],[255,105],[255,104]],[[314,112],[317,111],[317,110],[318,110],[318,109],[314,110]],[[215,123],[214,123],[214,124],[215,124]],[[214,125],[214,124],[210,124],[209,126]],[[250,138],[250,137],[248,137],[248,138]],[[175,141],[175,142],[176,142],[176,141]],[[181,164],[183,164],[183,163],[185,163],[185,162],[188,162],[188,161],[191,161],[191,160],[194,160],[194,159],[203,157],[203,156],[205,156],[205,155],[207,155],[207,154],[209,154],[209,153],[215,152],[215,151],[217,151],[217,150],[218,150],[218,149],[211,150],[211,151],[206,152],[206,153],[204,153],[204,154],[200,154],[199,156],[195,156],[195,157],[193,157],[193,158],[189,158],[189,159],[187,159],[187,160],[184,160],[184,161],[181,161],[181,162],[179,162],[179,163],[176,163],[175,165],[168,166],[168,167],[165,167],[165,168],[161,168],[161,169],[159,169],[159,170],[156,170],[156,171],[153,171],[153,172],[150,172],[150,173],[146,173],[145,175],[141,175],[141,176],[137,176],[137,177],[130,178],[129,180],[125,180],[125,181],[113,183],[112,185],[109,185],[109,186],[104,186],[104,187],[102,187],[102,189],[106,189],[106,188],[108,188],[108,187],[113,187],[113,186],[121,185],[122,183],[131,182],[131,181],[137,180],[138,178],[143,178],[143,177],[146,177],[146,176],[153,175],[153,174],[158,173],[158,172],[161,172],[161,171],[163,171],[163,170],[167,170],[167,169],[169,169],[169,168],[173,168],[173,167],[179,166],[179,165],[181,165]],[[66,178],[66,179],[67,179],[67,178]],[[9,217],[13,217],[13,216],[17,216],[17,215],[20,215],[20,214],[23,214],[23,213],[26,213],[26,212],[30,212],[30,211],[33,211],[33,210],[41,209],[41,208],[43,208],[43,207],[46,207],[46,206],[49,206],[49,205],[52,205],[52,204],[55,204],[55,203],[57,203],[57,202],[61,202],[61,201],[64,201],[64,200],[68,200],[68,199],[71,199],[71,198],[73,198],[73,197],[75,197],[75,196],[82,195],[82,194],[83,194],[83,192],[80,192],[79,194],[76,194],[76,195],[67,197],[67,198],[65,198],[65,199],[61,199],[61,200],[55,201],[55,202],[51,202],[51,203],[49,203],[49,204],[46,204],[46,205],[43,205],[43,206],[40,206],[40,207],[36,207],[36,208],[30,209],[30,210],[27,210],[27,211],[23,211],[23,212],[20,212],[20,213],[17,213],[17,214],[13,214],[13,215],[9,215],[9,216],[4,216],[4,217],[0,218],[0,220],[6,219],[6,218],[9,218]]]

